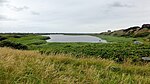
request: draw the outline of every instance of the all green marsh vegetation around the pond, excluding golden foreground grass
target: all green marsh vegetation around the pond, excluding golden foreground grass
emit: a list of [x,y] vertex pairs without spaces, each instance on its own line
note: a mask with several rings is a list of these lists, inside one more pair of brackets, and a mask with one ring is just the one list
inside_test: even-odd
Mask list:
[[[47,43],[47,37],[40,35],[25,35],[21,38],[5,35],[7,40],[27,45],[29,50],[38,50],[41,54],[72,54],[75,57],[96,56],[123,62],[132,59],[140,62],[141,57],[150,56],[150,42],[143,38],[127,38],[97,35],[109,43]],[[133,44],[133,40],[142,41],[143,44]]]

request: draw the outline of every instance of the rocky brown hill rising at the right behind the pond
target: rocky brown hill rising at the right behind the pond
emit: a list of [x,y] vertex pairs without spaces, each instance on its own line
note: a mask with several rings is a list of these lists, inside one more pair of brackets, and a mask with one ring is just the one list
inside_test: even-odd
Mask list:
[[150,24],[143,24],[142,27],[134,26],[127,29],[102,32],[101,35],[147,37],[150,38]]

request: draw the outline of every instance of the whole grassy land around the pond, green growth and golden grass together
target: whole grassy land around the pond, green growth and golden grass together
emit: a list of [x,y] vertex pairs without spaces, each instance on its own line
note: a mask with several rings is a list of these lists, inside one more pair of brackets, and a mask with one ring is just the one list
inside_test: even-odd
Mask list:
[[0,84],[150,83],[150,63],[141,60],[150,57],[149,42],[98,37],[108,43],[47,43],[49,38],[40,35],[0,35]]

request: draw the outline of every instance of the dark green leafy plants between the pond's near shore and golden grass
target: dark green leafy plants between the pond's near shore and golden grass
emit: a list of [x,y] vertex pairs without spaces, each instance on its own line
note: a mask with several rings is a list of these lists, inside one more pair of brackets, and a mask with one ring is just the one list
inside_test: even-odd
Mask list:
[[150,45],[133,43],[48,43],[35,47],[41,54],[72,54],[76,57],[97,56],[123,62],[128,58],[133,62],[139,62],[141,57],[149,57]]

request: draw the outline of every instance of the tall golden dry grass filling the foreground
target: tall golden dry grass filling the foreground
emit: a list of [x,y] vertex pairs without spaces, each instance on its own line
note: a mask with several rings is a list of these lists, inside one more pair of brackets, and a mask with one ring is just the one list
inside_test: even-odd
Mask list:
[[149,78],[150,63],[117,64],[98,57],[0,48],[0,84],[148,84]]

